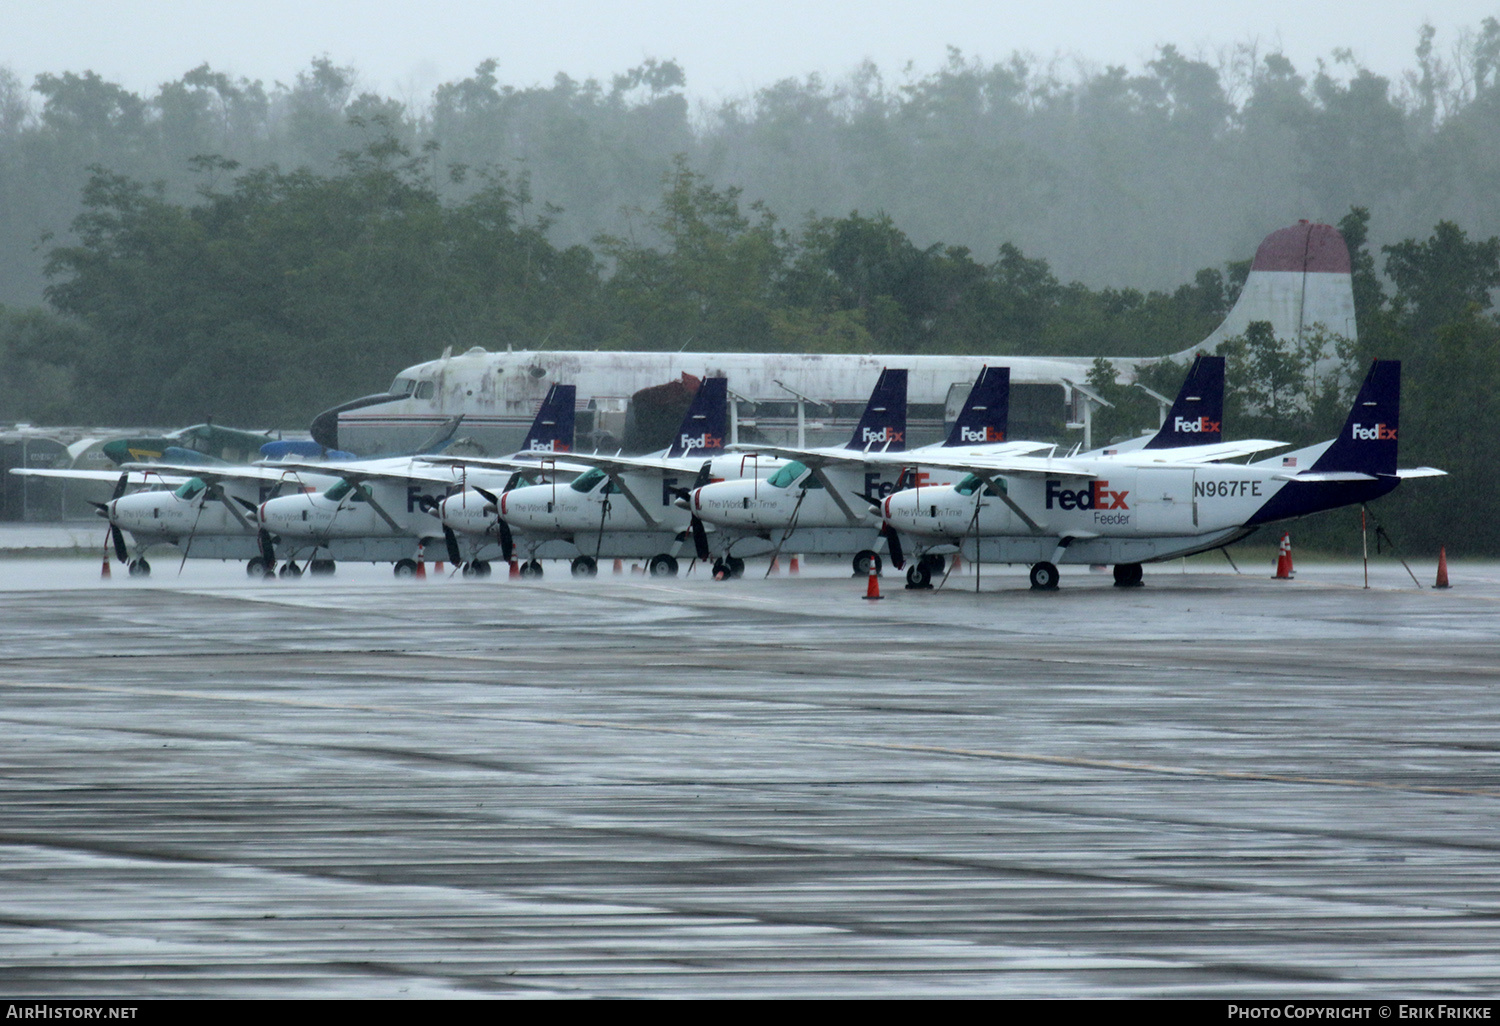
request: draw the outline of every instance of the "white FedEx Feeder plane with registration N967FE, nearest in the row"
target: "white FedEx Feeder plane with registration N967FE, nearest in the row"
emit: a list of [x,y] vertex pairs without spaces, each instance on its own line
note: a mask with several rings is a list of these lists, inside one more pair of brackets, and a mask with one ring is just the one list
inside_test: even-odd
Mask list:
[[1284,456],[1248,465],[1203,459],[1233,454],[1236,442],[1228,442],[1200,453],[927,458],[972,477],[891,495],[880,514],[903,534],[958,540],[982,562],[1029,562],[1034,588],[1054,588],[1059,562],[1110,562],[1118,585],[1138,585],[1143,562],[1220,549],[1263,524],[1366,502],[1408,477],[1442,476],[1431,466],[1396,468],[1400,404],[1401,363],[1377,360],[1340,435]]

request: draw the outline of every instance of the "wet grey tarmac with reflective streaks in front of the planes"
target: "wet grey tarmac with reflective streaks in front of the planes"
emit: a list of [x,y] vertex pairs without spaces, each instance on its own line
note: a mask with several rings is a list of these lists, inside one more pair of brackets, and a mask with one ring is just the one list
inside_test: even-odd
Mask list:
[[1496,566],[153,562],[0,561],[8,996],[1500,988]]

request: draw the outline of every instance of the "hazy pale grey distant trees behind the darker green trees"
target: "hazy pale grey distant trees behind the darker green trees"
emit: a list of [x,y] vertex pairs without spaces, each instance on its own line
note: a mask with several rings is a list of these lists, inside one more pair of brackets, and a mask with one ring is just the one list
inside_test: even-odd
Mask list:
[[696,108],[687,70],[654,60],[528,87],[484,62],[410,104],[357,81],[327,58],[270,87],[201,66],[140,96],[92,72],[26,84],[0,69],[0,303],[39,300],[38,240],[66,236],[90,165],[190,200],[195,156],[328,174],[376,120],[424,154],[444,198],[476,188],[450,168],[525,174],[537,204],[567,212],[562,246],[628,237],[680,154],[782,224],[885,213],[918,248],[988,261],[1010,243],[1094,288],[1167,288],[1352,206],[1378,243],[1438,220],[1500,232],[1494,18],[1456,39],[1424,30],[1396,81],[1341,52],[1299,69],[1251,46],[1162,46],[1134,74],[954,50],[930,74],[864,66]]

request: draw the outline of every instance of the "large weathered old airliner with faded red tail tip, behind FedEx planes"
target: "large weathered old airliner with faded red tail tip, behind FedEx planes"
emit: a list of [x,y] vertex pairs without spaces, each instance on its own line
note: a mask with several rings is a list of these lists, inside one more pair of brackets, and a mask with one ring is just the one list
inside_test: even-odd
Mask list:
[[[1256,252],[1234,308],[1206,339],[1178,354],[1212,352],[1226,338],[1268,321],[1278,338],[1300,340],[1322,324],[1354,336],[1348,249],[1329,225],[1302,222],[1272,232]],[[676,346],[670,346],[676,348]],[[1112,360],[1130,380],[1138,363],[1161,357]],[[990,356],[912,356],[908,444],[939,441],[944,424],[968,394]],[[320,414],[312,436],[328,448],[357,453],[411,450],[436,424],[465,414],[465,435],[489,453],[516,450],[531,411],[555,381],[578,386],[578,448],[646,452],[666,438],[638,430],[646,398],[684,374],[732,382],[728,444],[837,446],[849,436],[880,370],[897,360],[880,356],[788,352],[486,352],[482,348],[406,368],[390,392],[364,396]],[[1065,423],[1088,424],[1092,400],[1086,382],[1092,357],[1006,357],[1011,369],[1011,435],[1059,441]],[[638,438],[638,435],[640,435]],[[639,442],[639,444],[638,444]]]

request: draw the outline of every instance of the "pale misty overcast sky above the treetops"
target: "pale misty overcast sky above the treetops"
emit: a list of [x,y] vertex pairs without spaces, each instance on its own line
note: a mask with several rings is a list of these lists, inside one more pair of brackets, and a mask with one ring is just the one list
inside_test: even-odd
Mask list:
[[150,94],[208,62],[232,76],[291,82],[327,54],[360,87],[423,104],[486,57],[513,86],[558,72],[602,78],[675,58],[688,92],[740,98],[786,76],[842,78],[874,60],[888,82],[921,75],[946,46],[1000,60],[1016,50],[1138,70],[1160,44],[1214,60],[1239,42],[1281,50],[1302,72],[1347,46],[1394,76],[1430,21],[1444,54],[1500,0],[0,0],[0,66],[96,70]]

